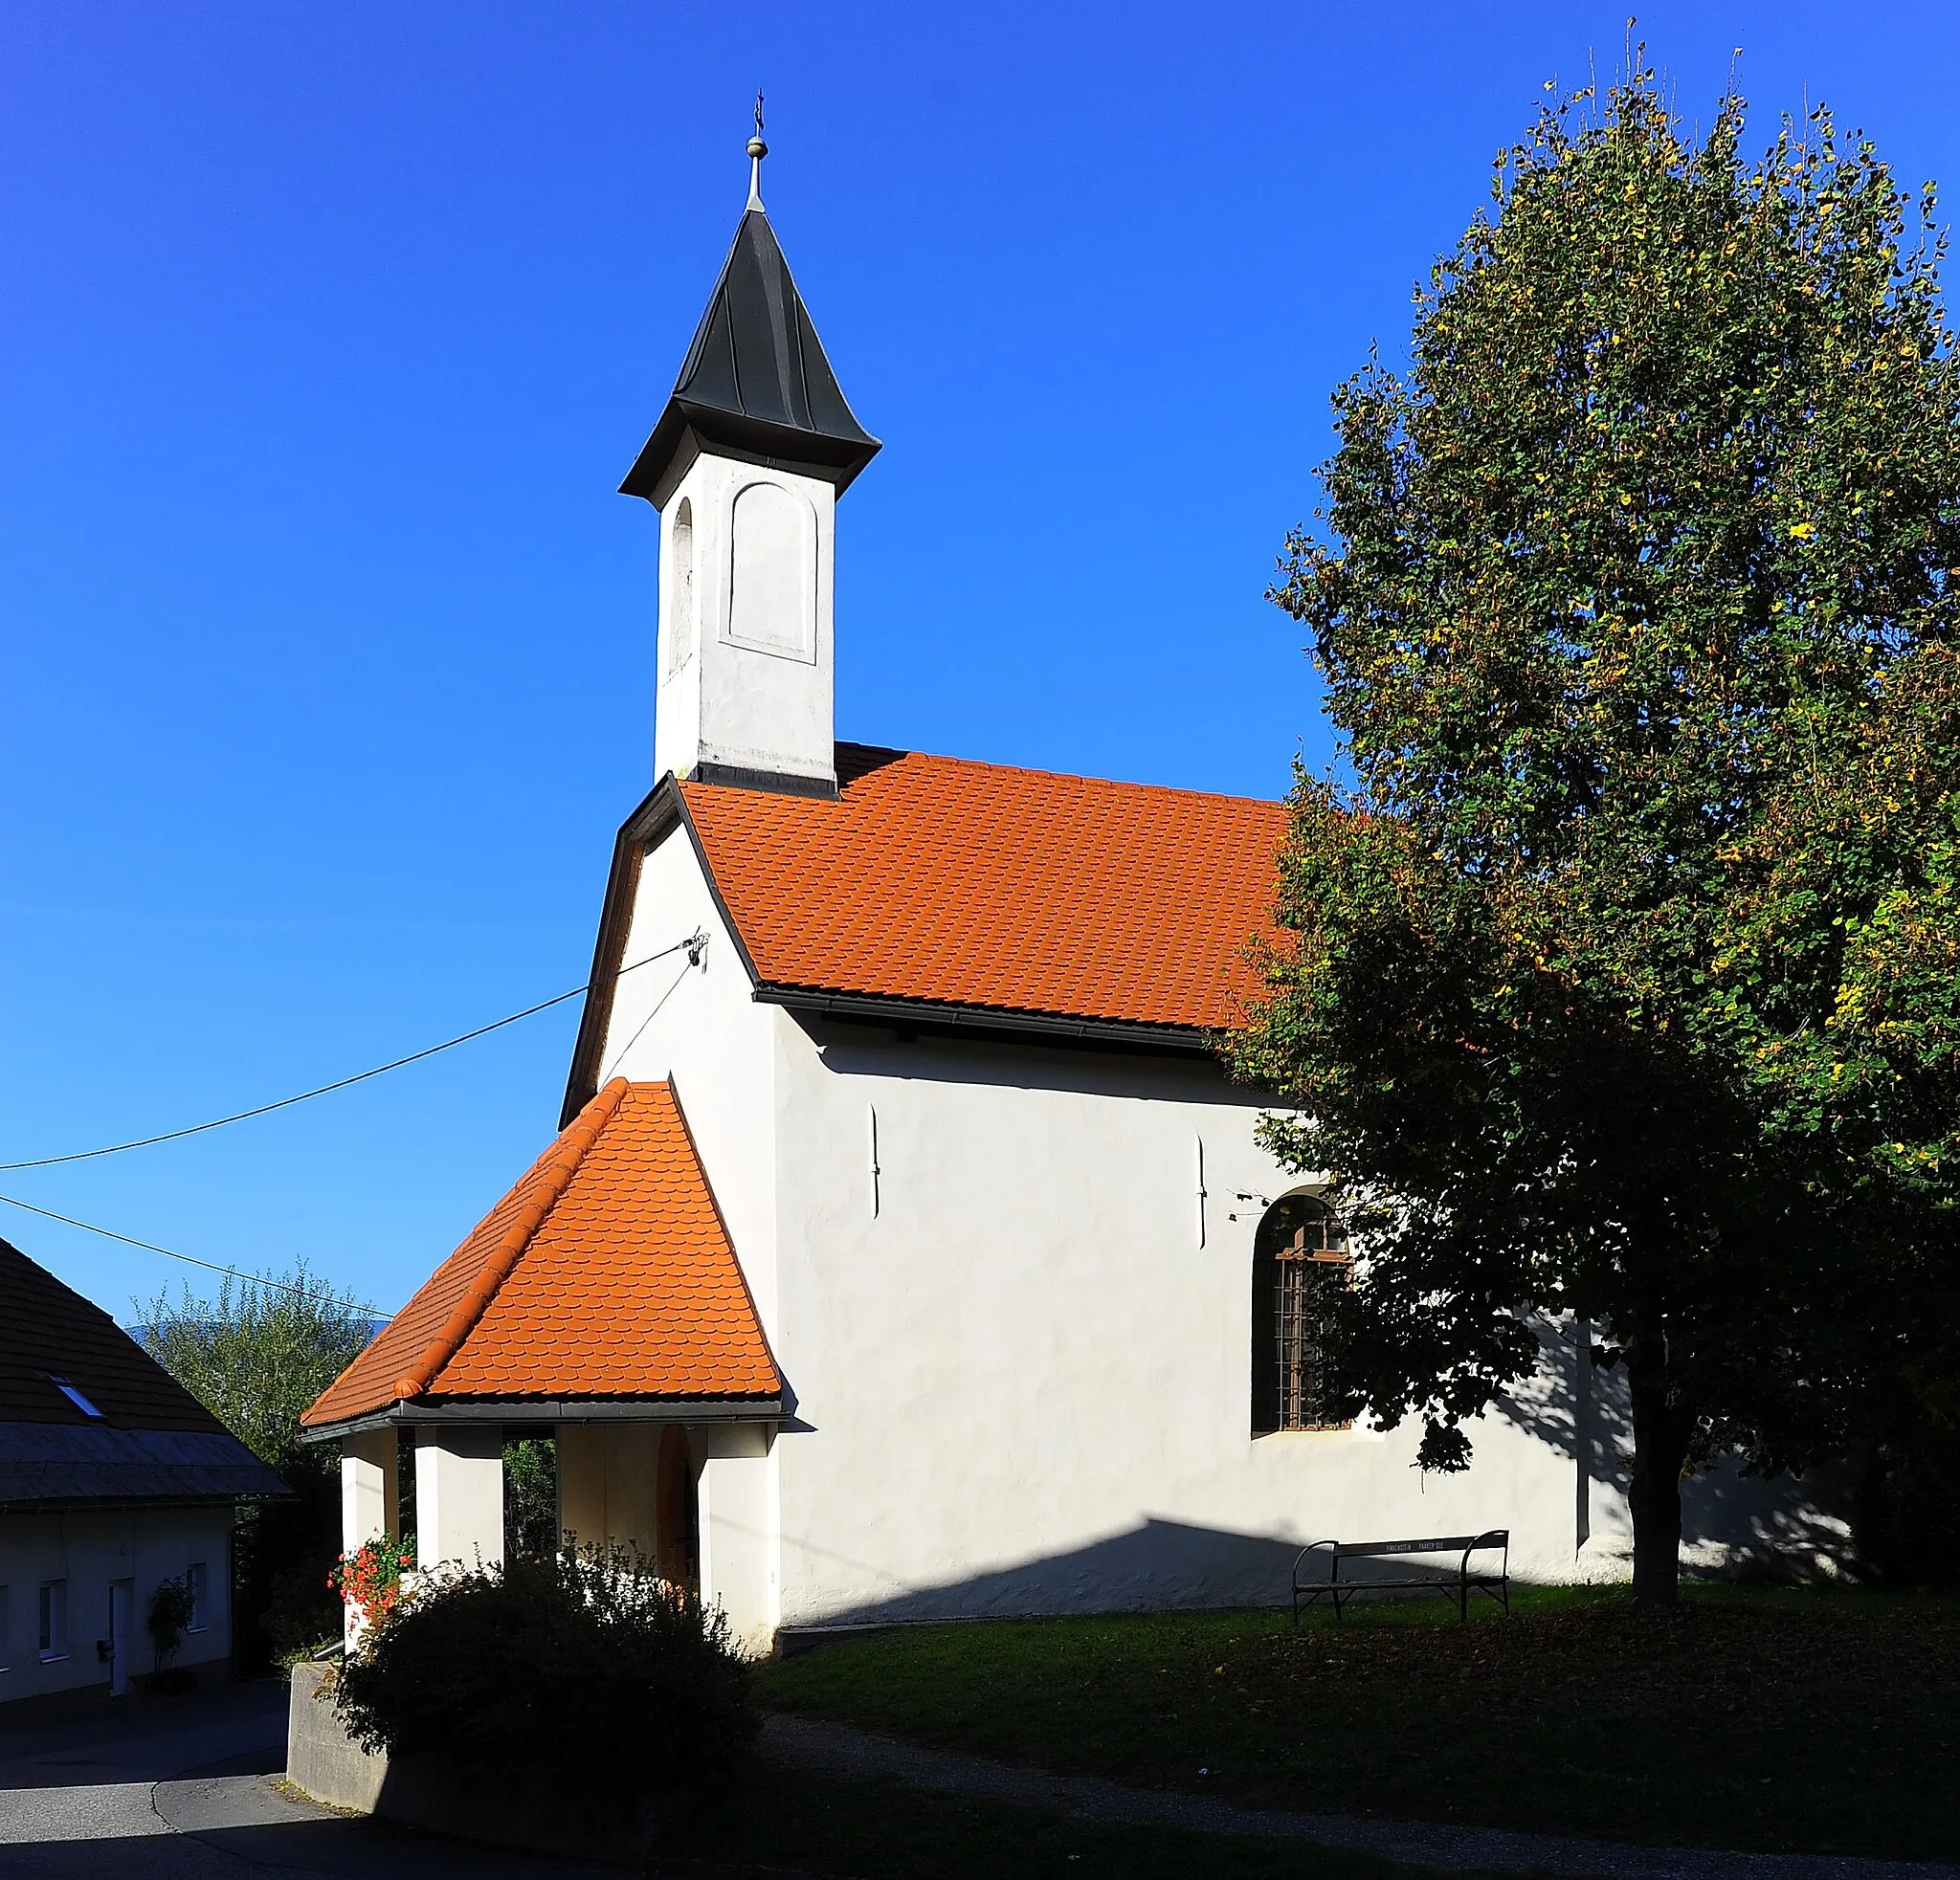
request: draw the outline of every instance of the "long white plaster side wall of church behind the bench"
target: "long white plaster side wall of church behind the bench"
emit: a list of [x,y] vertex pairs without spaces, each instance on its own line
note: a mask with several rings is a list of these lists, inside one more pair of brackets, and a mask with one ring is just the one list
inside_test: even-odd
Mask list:
[[[1625,1572],[1623,1547],[1582,1558],[1627,1531],[1625,1470],[1609,1380],[1582,1447],[1570,1329],[1543,1327],[1541,1378],[1472,1425],[1460,1476],[1413,1466],[1413,1423],[1250,1437],[1252,1237],[1298,1182],[1211,1066],[786,1014],[776,1039],[786,1625],[1262,1604],[1321,1537],[1509,1527],[1521,1578]],[[1699,1484],[1690,1525],[1727,1523],[1699,1558],[1791,1504]]]

